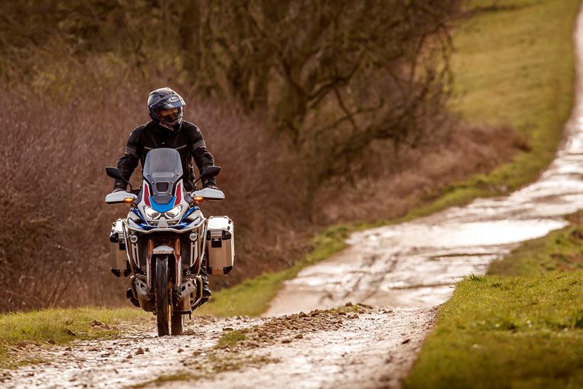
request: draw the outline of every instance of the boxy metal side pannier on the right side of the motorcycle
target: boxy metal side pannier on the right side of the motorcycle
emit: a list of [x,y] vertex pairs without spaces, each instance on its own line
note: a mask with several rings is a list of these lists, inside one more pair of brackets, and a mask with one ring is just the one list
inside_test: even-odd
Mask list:
[[207,223],[208,274],[226,275],[235,261],[235,225],[228,216],[210,216]]

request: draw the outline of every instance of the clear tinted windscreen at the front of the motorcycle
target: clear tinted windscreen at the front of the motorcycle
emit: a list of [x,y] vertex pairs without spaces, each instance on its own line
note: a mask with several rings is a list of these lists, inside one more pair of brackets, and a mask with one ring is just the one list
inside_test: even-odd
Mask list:
[[180,154],[175,149],[153,149],[146,154],[144,179],[150,184],[150,196],[157,204],[167,204],[174,197],[174,187],[182,178]]

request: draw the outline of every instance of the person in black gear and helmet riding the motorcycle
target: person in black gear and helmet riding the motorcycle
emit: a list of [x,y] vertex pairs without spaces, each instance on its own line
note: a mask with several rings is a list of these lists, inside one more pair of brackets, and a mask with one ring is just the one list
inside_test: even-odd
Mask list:
[[[198,171],[202,173],[207,166],[213,166],[215,161],[213,154],[206,149],[203,134],[200,129],[191,122],[182,118],[186,102],[181,95],[169,87],[162,87],[150,92],[148,97],[148,112],[151,121],[142,124],[132,131],[127,141],[124,155],[117,162],[117,168],[122,176],[129,181],[132,172],[138,166],[138,162],[144,166],[146,154],[151,149],[169,147],[180,153],[183,183],[186,191],[194,190],[194,172],[192,160]],[[203,181],[203,188],[216,188],[215,178],[207,178]],[[114,183],[114,191],[125,191],[127,184],[117,179]],[[204,261],[204,260],[203,260]],[[210,299],[206,266],[203,263],[200,276],[203,279],[203,302]]]

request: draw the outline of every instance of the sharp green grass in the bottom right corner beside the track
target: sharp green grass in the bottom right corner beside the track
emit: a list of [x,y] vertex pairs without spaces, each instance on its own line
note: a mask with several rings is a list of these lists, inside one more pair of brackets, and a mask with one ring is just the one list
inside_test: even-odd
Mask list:
[[474,277],[440,309],[406,388],[582,388],[583,272]]

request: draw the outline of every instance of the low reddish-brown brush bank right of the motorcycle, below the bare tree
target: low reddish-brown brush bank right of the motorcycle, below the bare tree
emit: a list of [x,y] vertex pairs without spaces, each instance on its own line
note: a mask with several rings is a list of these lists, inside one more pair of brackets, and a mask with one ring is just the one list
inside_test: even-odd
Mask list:
[[360,169],[321,186],[313,217],[324,223],[397,218],[434,200],[449,183],[487,173],[528,148],[508,126],[453,121],[447,127],[432,142],[398,153],[387,142],[371,145]]

